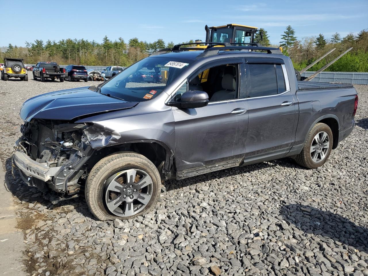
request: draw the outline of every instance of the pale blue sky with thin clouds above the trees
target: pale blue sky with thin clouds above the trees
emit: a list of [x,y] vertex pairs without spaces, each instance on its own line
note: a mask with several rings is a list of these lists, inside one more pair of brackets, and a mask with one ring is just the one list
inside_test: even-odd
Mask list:
[[[17,4],[15,5],[14,3]],[[279,43],[291,25],[299,39],[323,33],[358,33],[368,28],[368,1],[28,1],[0,0],[0,46],[25,46],[35,39],[88,39],[101,42],[107,35],[153,42],[205,40],[204,26],[229,23],[265,28],[271,43]],[[43,3],[43,2],[41,2]],[[46,2],[45,2],[46,3]],[[57,4],[56,4],[57,3]],[[14,8],[16,13],[14,13]],[[12,14],[8,18],[8,13]],[[21,18],[17,22],[12,19]]]

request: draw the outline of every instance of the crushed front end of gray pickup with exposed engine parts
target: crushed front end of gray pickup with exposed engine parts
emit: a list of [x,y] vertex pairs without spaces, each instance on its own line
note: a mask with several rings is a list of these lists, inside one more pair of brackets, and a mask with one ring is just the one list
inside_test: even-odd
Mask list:
[[21,126],[13,163],[22,180],[43,192],[55,191],[63,198],[77,195],[88,175],[94,149],[85,138],[88,124],[33,119]]

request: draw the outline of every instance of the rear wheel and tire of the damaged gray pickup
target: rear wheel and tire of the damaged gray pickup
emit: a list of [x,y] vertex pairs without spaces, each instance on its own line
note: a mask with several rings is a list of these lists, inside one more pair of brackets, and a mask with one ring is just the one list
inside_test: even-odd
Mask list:
[[326,163],[330,156],[333,144],[333,135],[330,127],[317,123],[308,134],[301,153],[295,160],[303,167],[315,169]]

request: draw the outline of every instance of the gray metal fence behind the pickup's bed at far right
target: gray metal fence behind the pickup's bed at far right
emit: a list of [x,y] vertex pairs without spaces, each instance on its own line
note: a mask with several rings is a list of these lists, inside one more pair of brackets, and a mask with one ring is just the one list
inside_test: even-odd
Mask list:
[[[307,71],[302,73],[301,76],[309,77],[314,73],[315,71]],[[321,72],[312,81],[341,84],[368,84],[368,72]]]

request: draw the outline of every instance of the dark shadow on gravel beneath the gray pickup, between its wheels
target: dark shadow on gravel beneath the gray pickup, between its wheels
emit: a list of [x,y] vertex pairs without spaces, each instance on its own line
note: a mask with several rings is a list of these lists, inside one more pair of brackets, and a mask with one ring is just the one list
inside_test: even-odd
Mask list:
[[219,179],[219,178],[229,177],[229,176],[236,176],[237,174],[250,173],[252,171],[258,171],[261,169],[266,169],[266,168],[276,167],[276,166],[294,168],[297,170],[308,170],[304,167],[299,166],[291,158],[283,158],[283,159],[278,159],[278,160],[273,160],[273,161],[268,161],[268,162],[261,162],[261,163],[246,165],[244,167],[233,167],[230,169],[213,171],[212,173],[201,174],[199,176],[185,178],[180,181],[177,181],[177,180],[166,181],[166,184],[168,184],[167,191],[175,190],[181,187],[187,187],[193,184],[198,184],[203,181],[209,181],[209,180],[214,180],[214,179]]

